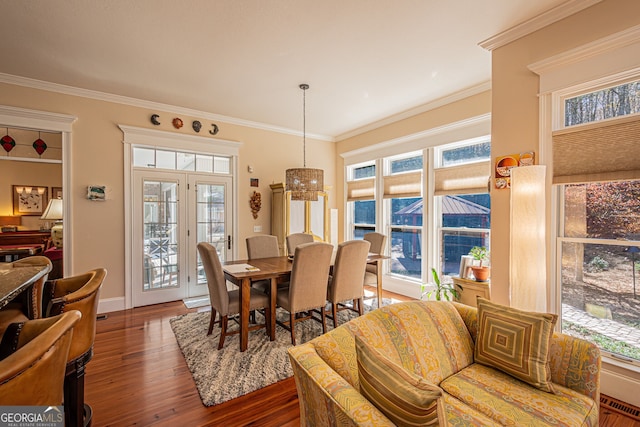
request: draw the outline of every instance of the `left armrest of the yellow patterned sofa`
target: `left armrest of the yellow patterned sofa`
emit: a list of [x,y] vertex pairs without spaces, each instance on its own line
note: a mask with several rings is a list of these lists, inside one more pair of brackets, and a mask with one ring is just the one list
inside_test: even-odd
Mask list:
[[288,349],[302,426],[393,426],[306,343]]

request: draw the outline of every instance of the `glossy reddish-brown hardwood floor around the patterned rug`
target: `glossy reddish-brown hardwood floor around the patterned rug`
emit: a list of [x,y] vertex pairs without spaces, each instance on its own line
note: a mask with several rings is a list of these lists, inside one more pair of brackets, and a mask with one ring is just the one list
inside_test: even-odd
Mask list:
[[[169,326],[170,318],[197,310],[206,309],[177,301],[108,313],[98,322],[85,383],[94,427],[299,425],[293,378],[221,405],[202,405]],[[640,421],[603,410],[600,427],[640,427]]]

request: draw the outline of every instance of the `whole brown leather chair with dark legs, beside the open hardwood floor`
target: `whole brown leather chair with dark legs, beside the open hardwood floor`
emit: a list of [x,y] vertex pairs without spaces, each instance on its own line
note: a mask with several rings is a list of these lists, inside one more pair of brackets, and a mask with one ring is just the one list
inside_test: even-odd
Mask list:
[[107,270],[97,268],[77,276],[47,282],[44,287],[45,316],[55,316],[71,310],[82,313],[73,332],[64,380],[65,425],[91,425],[91,406],[84,402],[85,365],[93,357],[96,338],[96,316],[100,288]]

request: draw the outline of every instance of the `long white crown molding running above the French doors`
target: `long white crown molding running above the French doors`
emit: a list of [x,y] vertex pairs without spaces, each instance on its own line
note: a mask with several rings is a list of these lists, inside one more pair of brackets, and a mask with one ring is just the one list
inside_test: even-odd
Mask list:
[[[82,89],[74,86],[67,86],[58,83],[46,82],[43,80],[31,79],[28,77],[15,76],[12,74],[0,73],[0,83],[7,83],[16,86],[28,87],[31,89],[46,90],[49,92],[61,93],[64,95],[78,96],[81,98],[89,98],[97,101],[113,102],[116,104],[128,105],[131,107],[146,108],[156,111],[164,111],[167,113],[184,114],[185,116],[200,117],[211,121],[220,121],[238,126],[244,126],[253,129],[266,130],[269,132],[277,132],[288,135],[303,136],[302,132],[295,129],[289,129],[280,126],[269,125],[265,123],[253,122],[250,120],[238,119],[235,117],[224,116],[221,114],[208,113],[206,111],[194,110],[191,108],[180,107],[177,105],[163,104],[160,102],[147,101],[144,99],[132,98],[129,96],[114,95],[106,92],[99,92],[91,89]],[[318,139],[321,141],[334,141],[334,138],[328,135],[309,134],[308,138]]]

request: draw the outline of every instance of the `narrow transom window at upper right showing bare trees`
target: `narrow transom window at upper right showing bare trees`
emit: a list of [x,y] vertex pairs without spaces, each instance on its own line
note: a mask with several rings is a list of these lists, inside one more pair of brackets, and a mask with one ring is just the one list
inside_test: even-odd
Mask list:
[[564,125],[611,119],[640,113],[640,80],[566,98]]

